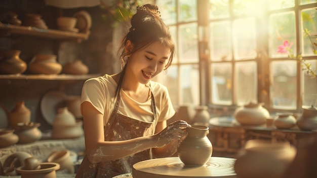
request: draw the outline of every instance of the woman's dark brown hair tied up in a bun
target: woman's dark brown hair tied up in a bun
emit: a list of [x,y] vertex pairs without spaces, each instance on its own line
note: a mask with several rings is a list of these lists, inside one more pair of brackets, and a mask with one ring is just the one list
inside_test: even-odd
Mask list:
[[[118,52],[121,51],[120,57],[122,59],[122,66],[126,65],[125,57],[133,54],[148,45],[161,42],[163,45],[171,49],[169,61],[164,69],[171,66],[174,53],[175,44],[172,40],[169,27],[161,19],[159,8],[156,5],[146,4],[137,6],[137,12],[131,18],[131,28],[121,42]],[[125,46],[127,41],[130,40],[133,44],[132,51],[126,53]]]

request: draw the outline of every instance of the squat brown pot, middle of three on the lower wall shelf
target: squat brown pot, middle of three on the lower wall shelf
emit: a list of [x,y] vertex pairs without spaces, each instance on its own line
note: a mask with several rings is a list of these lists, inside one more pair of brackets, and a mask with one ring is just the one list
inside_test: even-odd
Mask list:
[[32,74],[60,74],[62,65],[57,62],[56,55],[38,54],[29,63],[29,71]]

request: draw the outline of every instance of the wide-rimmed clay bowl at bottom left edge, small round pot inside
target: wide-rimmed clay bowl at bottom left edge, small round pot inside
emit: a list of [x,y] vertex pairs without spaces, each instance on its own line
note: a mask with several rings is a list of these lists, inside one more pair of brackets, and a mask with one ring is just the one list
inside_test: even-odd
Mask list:
[[27,170],[23,166],[16,170],[21,174],[21,178],[56,178],[56,170],[59,169],[58,163],[41,163],[41,168]]

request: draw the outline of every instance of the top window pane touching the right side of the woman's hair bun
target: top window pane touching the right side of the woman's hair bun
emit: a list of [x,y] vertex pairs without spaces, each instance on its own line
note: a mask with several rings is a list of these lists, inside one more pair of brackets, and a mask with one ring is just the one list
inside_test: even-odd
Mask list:
[[156,5],[161,12],[161,18],[167,25],[176,23],[176,0],[157,0]]

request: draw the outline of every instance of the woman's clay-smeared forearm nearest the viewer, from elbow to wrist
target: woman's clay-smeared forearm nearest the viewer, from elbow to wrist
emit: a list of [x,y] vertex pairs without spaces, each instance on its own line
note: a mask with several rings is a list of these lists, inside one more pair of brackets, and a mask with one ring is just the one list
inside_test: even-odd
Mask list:
[[94,149],[87,150],[87,157],[92,163],[116,160],[153,148],[154,135],[123,141],[104,141]]

